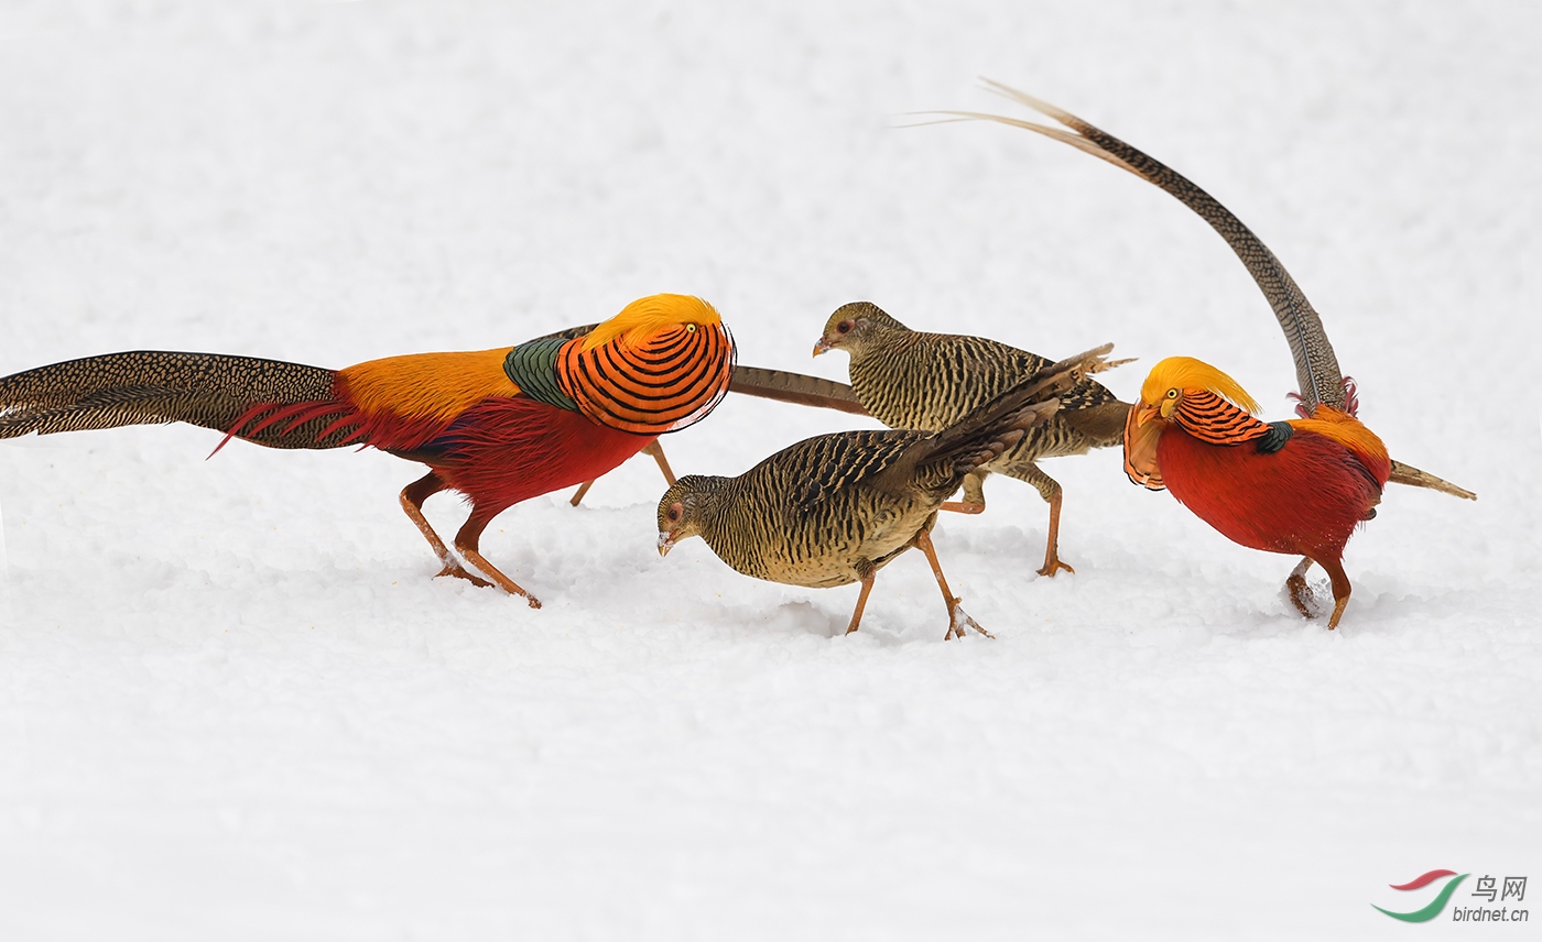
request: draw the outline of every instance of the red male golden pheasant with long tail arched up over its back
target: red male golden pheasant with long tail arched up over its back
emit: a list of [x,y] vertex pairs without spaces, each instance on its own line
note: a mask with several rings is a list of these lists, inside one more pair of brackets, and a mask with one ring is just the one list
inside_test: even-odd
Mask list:
[[1025,128],[1161,187],[1198,213],[1247,267],[1291,344],[1300,382],[1289,422],[1263,422],[1254,399],[1231,376],[1192,358],[1158,362],[1124,429],[1124,470],[1136,484],[1167,489],[1234,543],[1300,555],[1286,586],[1311,617],[1306,570],[1321,566],[1331,580],[1337,627],[1349,603],[1343,550],[1355,527],[1375,516],[1388,481],[1431,487],[1473,500],[1416,467],[1391,461],[1386,446],[1355,418],[1354,382],[1338,370],[1321,319],[1280,259],[1226,207],[1172,168],[1079,117],[999,83],[995,91],[1061,125],[1062,131],[993,114],[958,113]]

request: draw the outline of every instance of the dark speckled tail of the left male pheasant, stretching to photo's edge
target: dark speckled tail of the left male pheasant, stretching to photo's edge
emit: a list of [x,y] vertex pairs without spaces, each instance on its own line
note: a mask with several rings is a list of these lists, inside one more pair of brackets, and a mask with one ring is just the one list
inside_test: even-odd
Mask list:
[[338,419],[352,412],[335,398],[335,378],[321,367],[217,353],[86,356],[0,378],[0,438],[190,422],[227,441],[332,449],[348,444]]

